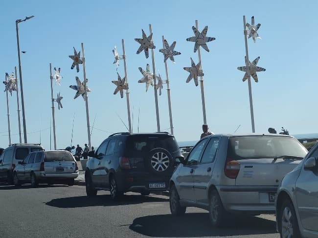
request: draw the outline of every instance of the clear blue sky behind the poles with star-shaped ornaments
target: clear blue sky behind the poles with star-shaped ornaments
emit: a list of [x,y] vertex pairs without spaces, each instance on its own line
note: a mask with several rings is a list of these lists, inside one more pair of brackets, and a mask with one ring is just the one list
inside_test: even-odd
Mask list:
[[[138,67],[151,64],[142,52],[136,55],[141,29],[149,35],[152,24],[156,45],[156,72],[165,79],[161,36],[171,44],[177,41],[176,64],[168,61],[174,134],[178,141],[200,138],[203,124],[200,85],[193,80],[185,83],[190,57],[198,62],[193,53],[193,42],[185,39],[193,36],[191,29],[195,20],[199,30],[208,25],[207,36],[216,40],[208,42],[210,52],[201,50],[204,72],[206,118],[211,131],[250,133],[250,105],[248,83],[243,82],[244,73],[237,70],[244,66],[245,45],[243,15],[247,22],[254,16],[261,23],[258,33],[262,40],[249,42],[250,60],[260,56],[258,66],[266,68],[258,73],[258,83],[252,80],[254,119],[256,133],[266,133],[268,127],[277,131],[281,126],[291,134],[317,133],[318,113],[313,110],[317,103],[318,80],[316,77],[317,1],[269,0],[269,1],[102,1],[102,0],[56,0],[0,2],[2,39],[0,45],[0,72],[14,71],[18,66],[15,20],[34,15],[33,19],[19,23],[19,37],[23,73],[23,91],[28,142],[41,142],[50,148],[51,99],[49,63],[61,67],[62,86],[53,86],[54,97],[63,96],[63,109],[55,104],[57,148],[70,145],[73,115],[73,143],[87,142],[85,102],[73,99],[75,76],[83,79],[83,70],[71,70],[73,46],[79,51],[84,43],[86,75],[89,93],[89,111],[93,125],[91,144],[98,146],[110,133],[127,131],[117,114],[128,126],[126,98],[113,95],[117,79],[112,49],[117,46],[122,54],[121,39],[125,40],[127,75],[133,130],[157,131],[154,90],[145,92],[145,85],[138,83],[141,74]],[[124,76],[123,62],[118,67]],[[20,84],[19,84],[20,87]],[[164,85],[164,89],[165,89]],[[4,89],[4,85],[3,85]],[[0,103],[0,147],[8,145],[6,96],[2,93]],[[12,142],[19,142],[16,93],[9,98]],[[161,130],[169,131],[167,92],[159,97]],[[22,118],[22,113],[21,113]],[[94,122],[95,119],[95,122]],[[94,122],[94,124],[93,124]],[[53,139],[52,139],[53,141]],[[53,148],[53,142],[52,142]]]

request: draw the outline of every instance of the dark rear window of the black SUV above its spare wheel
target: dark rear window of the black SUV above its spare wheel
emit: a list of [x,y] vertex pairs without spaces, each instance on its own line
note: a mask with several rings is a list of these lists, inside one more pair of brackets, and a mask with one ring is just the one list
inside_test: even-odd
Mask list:
[[127,139],[128,152],[137,156],[155,148],[163,148],[170,153],[179,151],[179,145],[173,136],[135,135]]

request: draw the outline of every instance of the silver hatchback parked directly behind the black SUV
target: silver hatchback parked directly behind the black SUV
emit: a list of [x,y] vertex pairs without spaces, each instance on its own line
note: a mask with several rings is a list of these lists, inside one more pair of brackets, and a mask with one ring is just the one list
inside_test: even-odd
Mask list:
[[[274,213],[281,179],[307,154],[284,135],[212,135],[201,139],[170,180],[170,210],[187,206],[210,212],[213,226],[229,213]],[[182,158],[180,158],[182,160]]]

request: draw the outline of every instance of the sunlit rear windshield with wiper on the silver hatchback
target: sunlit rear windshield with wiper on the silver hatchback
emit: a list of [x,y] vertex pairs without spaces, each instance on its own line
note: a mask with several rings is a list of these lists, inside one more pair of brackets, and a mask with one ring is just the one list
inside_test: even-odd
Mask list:
[[263,159],[277,157],[303,158],[307,150],[292,137],[249,136],[231,137],[227,157],[231,159]]

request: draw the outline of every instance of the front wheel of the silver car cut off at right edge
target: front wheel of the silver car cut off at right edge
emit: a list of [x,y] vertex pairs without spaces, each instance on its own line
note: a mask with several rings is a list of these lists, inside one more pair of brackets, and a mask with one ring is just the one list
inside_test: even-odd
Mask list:
[[301,237],[293,203],[288,199],[280,209],[280,237]]

